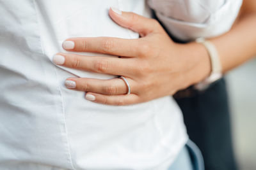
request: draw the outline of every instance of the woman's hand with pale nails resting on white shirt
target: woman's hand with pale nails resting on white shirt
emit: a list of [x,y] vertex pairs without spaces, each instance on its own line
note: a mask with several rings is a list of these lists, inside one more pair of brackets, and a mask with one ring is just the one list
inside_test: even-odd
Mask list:
[[109,10],[109,15],[122,27],[138,32],[141,38],[70,38],[63,43],[65,50],[120,57],[58,53],[54,62],[74,69],[124,76],[131,94],[127,95],[127,86],[121,78],[67,78],[65,85],[69,89],[86,92],[86,99],[96,103],[127,105],[172,95],[209,74],[209,59],[202,45],[174,43],[154,19],[116,9]]

